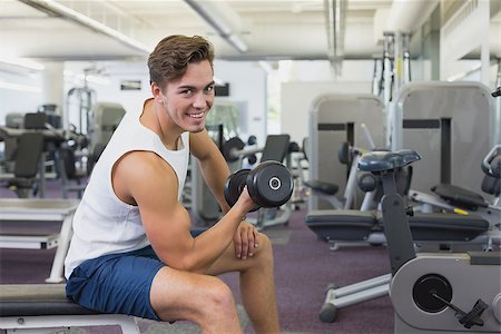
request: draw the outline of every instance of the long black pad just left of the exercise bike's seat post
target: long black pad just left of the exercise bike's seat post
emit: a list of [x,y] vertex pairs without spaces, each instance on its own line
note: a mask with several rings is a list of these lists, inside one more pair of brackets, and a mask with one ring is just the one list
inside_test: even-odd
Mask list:
[[312,210],[306,226],[323,240],[360,242],[369,238],[377,225],[375,215],[360,210]]

